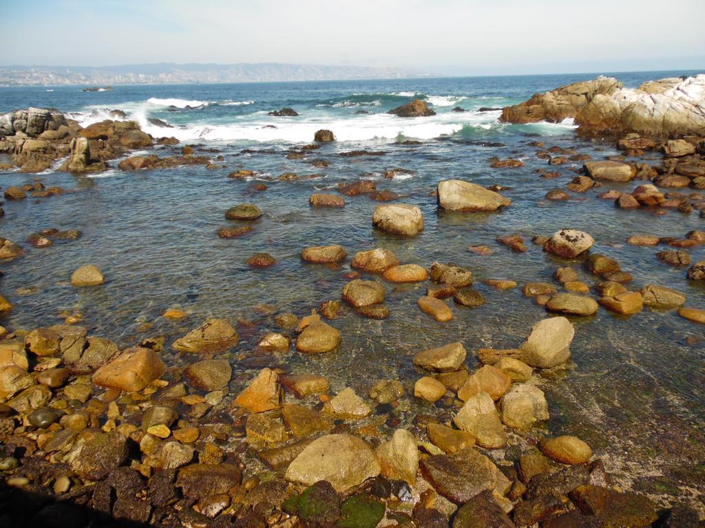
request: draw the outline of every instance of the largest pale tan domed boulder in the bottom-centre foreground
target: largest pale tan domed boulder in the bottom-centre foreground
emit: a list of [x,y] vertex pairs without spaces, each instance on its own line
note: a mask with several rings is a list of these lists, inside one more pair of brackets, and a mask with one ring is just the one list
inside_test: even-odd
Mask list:
[[343,492],[380,472],[374,451],[364,441],[350,434],[327,434],[301,451],[285,477],[307,486],[326,480]]

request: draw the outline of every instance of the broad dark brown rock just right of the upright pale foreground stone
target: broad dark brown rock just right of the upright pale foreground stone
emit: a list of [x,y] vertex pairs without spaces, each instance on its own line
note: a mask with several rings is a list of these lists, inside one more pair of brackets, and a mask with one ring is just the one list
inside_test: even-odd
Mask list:
[[470,501],[497,486],[497,467],[474,448],[455,456],[432,455],[421,461],[421,472],[434,489],[455,504]]

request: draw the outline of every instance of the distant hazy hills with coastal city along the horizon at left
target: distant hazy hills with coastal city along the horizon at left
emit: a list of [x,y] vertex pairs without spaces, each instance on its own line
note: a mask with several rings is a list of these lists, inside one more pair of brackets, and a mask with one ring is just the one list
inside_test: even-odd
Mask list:
[[396,68],[312,64],[127,64],[121,66],[0,66],[0,85],[202,84],[431,77]]

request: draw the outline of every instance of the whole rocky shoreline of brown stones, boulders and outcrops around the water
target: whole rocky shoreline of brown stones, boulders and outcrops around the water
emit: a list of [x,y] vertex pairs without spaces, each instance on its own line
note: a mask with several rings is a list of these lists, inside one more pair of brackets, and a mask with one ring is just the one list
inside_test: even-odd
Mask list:
[[[577,149],[534,142],[537,158],[546,160],[540,177],[551,179],[554,165],[582,164],[575,180],[549,191],[547,201],[635,182],[631,191],[611,188],[596,199],[614,201],[625,211],[644,208],[661,215],[675,209],[684,214],[700,211],[702,217],[705,125],[698,112],[705,108],[704,84],[701,75],[628,91],[615,80],[600,78],[505,108],[502,119],[574,118],[580,134],[608,136],[623,151],[624,156],[592,160]],[[646,104],[643,94],[649,94],[653,105]],[[667,99],[678,99],[682,106],[676,108]],[[400,107],[393,112],[422,119],[430,115],[423,106],[423,101],[415,101],[407,111]],[[673,108],[679,118],[672,118]],[[23,172],[42,172],[60,158],[66,158],[61,170],[75,174],[106,170],[108,162],[117,159],[121,170],[192,164],[216,168],[223,161],[197,156],[192,146],[166,158],[130,156],[155,142],[169,148],[176,148],[177,142],[155,140],[135,122],[105,121],[82,128],[57,111],[37,108],[2,116],[0,136],[0,152],[10,153]],[[315,139],[331,142],[333,132],[321,130]],[[319,143],[289,154],[315,152]],[[627,159],[658,152],[663,156],[658,165]],[[492,170],[508,171],[523,165],[498,158],[489,164]],[[389,170],[388,177],[402,173]],[[240,180],[251,174],[241,169],[229,176]],[[278,178],[298,179],[293,173]],[[691,189],[687,194],[678,190],[686,188]],[[6,199],[23,199],[27,192],[37,199],[61,194],[61,189],[51,189],[36,181],[4,191]],[[451,179],[429,189],[439,210],[457,214],[510,208],[508,190]],[[381,202],[399,199],[367,180],[338,191],[312,194],[309,206],[341,208],[345,199],[357,196]],[[262,210],[254,203],[239,203],[223,213],[229,223],[218,235],[234,238],[256,229],[251,224]],[[410,240],[425,227],[422,211],[413,203],[381,203],[367,221],[381,233]],[[54,239],[80,237],[80,232],[66,233],[47,230],[27,241],[42,248]],[[378,247],[351,256],[350,269],[345,270],[349,282],[340,297],[321,298],[313,313],[259,307],[266,318],[263,329],[247,320],[233,325],[209,319],[176,339],[149,337],[123,349],[111,339],[92,335],[81,325],[80,314],[69,315],[63,325],[2,329],[0,524],[701,526],[702,512],[692,507],[656,503],[621,489],[601,453],[594,453],[584,439],[546,434],[546,422],[555,420],[560,410],[548,405],[541,387],[571,375],[575,318],[589,318],[598,310],[630,317],[657,309],[698,324],[705,323],[705,310],[689,306],[680,291],[661,284],[630,289],[632,274],[617,260],[591,251],[595,240],[587,232],[566,226],[545,235],[537,234],[531,242],[561,263],[553,282],[519,284],[510,277],[477,277],[453,263],[403,263],[392,251]],[[502,234],[497,241],[514,253],[525,253],[530,244],[515,233]],[[635,233],[626,242],[668,246],[656,253],[658,260],[682,268],[684,281],[705,280],[705,261],[692,263],[687,252],[705,243],[704,231],[679,237]],[[481,254],[487,250],[471,249]],[[2,239],[0,258],[21,258],[23,252],[18,244]],[[348,262],[348,253],[338,244],[302,244],[300,258],[307,265],[340,268]],[[252,268],[275,263],[268,253],[248,260]],[[580,279],[578,266],[595,279],[595,298],[590,284]],[[314,360],[337,353],[341,331],[336,320],[350,312],[384,325],[391,314],[388,306],[394,303],[389,294],[397,284],[425,285],[415,308],[447,323],[458,310],[485,302],[475,288],[479,279],[496,291],[521,286],[524,296],[546,309],[546,318],[527,327],[523,341],[507,342],[514,348],[469,351],[449,335],[446,343],[415,351],[407,358],[417,372],[413,394],[398,379],[380,379],[367,394],[356,394],[349,386],[333,394],[321,372],[274,366],[285,353]],[[104,281],[101,270],[92,265],[71,277],[77,289],[100,288]],[[1,312],[12,308],[0,296]],[[173,322],[176,331],[187,316],[169,309],[162,318]],[[245,351],[243,334],[253,332],[257,346]],[[471,358],[482,366],[469,369]],[[231,365],[248,359],[253,375],[244,382],[235,379]],[[261,359],[268,366],[257,366]],[[423,403],[428,413],[415,415],[409,427],[399,427],[393,410],[405,408],[410,400]]]

